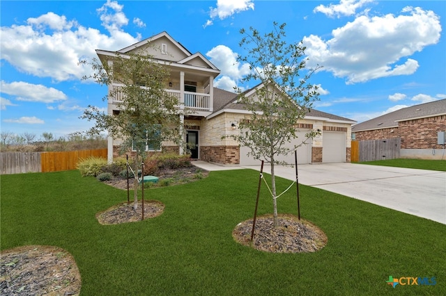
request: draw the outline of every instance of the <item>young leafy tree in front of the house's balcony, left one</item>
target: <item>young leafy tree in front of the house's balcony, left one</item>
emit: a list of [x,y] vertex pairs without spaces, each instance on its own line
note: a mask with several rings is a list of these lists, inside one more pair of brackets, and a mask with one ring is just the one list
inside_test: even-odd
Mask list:
[[[180,128],[182,109],[178,99],[168,94],[166,88],[169,70],[165,65],[153,60],[153,56],[141,51],[134,54],[118,54],[111,63],[102,65],[100,60],[91,62],[93,74],[83,79],[94,79],[109,88],[103,99],[119,98],[115,114],[105,114],[95,106],[89,106],[82,118],[95,122],[89,133],[108,131],[115,139],[121,139],[121,153],[132,150],[134,159],[132,170],[138,179],[140,160],[144,161],[148,148],[160,149],[163,141],[182,144],[183,129]],[[116,87],[115,85],[119,85]],[[137,209],[138,182],[134,182],[134,209]]]

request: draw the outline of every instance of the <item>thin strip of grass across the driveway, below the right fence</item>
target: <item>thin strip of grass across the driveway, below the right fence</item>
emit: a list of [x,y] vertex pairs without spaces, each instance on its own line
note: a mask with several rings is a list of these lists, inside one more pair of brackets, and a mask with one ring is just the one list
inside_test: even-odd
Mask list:
[[387,161],[364,161],[362,165],[383,165],[387,167],[407,167],[411,169],[446,171],[446,160],[434,161],[426,159],[398,158]]

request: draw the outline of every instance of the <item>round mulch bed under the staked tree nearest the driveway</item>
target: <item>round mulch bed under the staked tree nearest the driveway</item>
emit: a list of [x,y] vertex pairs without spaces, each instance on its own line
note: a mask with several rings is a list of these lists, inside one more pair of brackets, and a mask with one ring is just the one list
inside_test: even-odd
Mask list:
[[272,253],[316,252],[327,244],[325,233],[306,220],[279,215],[278,222],[279,226],[273,227],[272,215],[257,217],[252,242],[252,219],[238,224],[232,236],[242,245]]

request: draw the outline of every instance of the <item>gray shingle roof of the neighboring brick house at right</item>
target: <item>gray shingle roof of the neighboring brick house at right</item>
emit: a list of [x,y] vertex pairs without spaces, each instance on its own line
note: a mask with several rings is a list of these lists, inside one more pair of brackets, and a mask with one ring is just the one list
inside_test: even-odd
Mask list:
[[352,127],[352,131],[389,129],[392,127],[398,127],[398,122],[438,115],[446,115],[446,99],[402,108],[391,113],[375,117],[371,120],[367,120],[366,122],[355,124]]

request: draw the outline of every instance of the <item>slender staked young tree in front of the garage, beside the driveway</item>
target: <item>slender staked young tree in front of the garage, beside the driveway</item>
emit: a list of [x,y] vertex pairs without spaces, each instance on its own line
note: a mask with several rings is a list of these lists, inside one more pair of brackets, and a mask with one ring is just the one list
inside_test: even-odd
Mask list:
[[[240,47],[247,54],[238,56],[237,60],[247,63],[251,70],[242,82],[260,81],[260,84],[255,95],[239,94],[238,102],[245,104],[252,115],[239,123],[240,133],[233,138],[250,148],[249,155],[271,165],[274,226],[277,227],[275,165],[285,164],[277,161],[277,156],[292,152],[304,142],[291,149],[285,146],[297,138],[298,120],[305,117],[318,99],[317,86],[307,81],[320,67],[305,69],[307,58],[302,42],[287,44],[286,24],[279,26],[274,22],[273,25],[274,29],[264,35],[252,27],[249,32],[240,30],[243,35]],[[307,137],[314,135],[316,132],[312,131]]]

